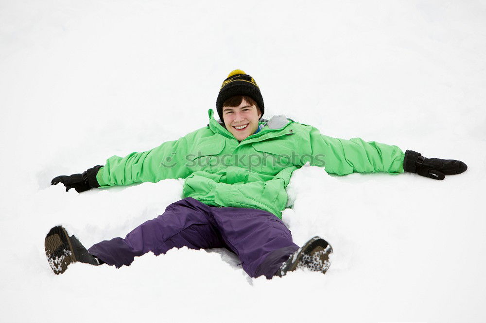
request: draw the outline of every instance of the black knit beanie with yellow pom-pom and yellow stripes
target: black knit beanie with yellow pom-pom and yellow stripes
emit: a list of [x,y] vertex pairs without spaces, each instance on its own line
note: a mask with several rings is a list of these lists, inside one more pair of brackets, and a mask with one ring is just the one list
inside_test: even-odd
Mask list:
[[[220,119],[223,121],[223,103],[234,96],[248,96],[257,102],[260,108],[261,116],[265,112],[263,105],[263,97],[261,97],[260,88],[255,80],[245,74],[241,69],[235,69],[229,73],[226,80],[221,85],[218,98],[216,99],[216,111]],[[261,118],[260,116],[260,118]]]

